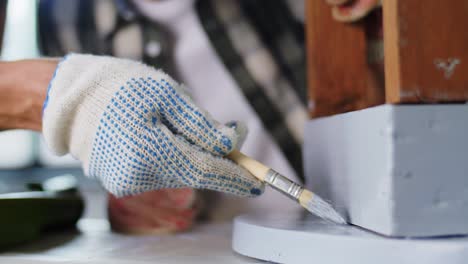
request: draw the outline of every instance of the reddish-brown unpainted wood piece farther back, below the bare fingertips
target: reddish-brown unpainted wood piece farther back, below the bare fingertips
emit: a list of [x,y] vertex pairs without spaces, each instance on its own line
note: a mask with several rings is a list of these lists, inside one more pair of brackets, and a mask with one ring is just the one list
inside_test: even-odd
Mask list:
[[328,116],[384,103],[361,23],[334,21],[324,0],[306,1],[309,109]]

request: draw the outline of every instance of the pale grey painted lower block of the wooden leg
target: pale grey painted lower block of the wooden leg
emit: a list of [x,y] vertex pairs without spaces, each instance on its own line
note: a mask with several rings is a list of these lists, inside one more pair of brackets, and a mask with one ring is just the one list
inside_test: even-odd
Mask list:
[[468,234],[468,105],[384,105],[309,121],[307,185],[391,236]]

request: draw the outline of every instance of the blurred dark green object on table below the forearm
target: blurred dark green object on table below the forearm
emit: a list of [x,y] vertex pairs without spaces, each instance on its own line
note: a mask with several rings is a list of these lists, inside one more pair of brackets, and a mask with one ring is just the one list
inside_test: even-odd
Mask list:
[[71,175],[26,183],[24,191],[0,193],[0,249],[36,239],[48,229],[73,227],[83,209]]

